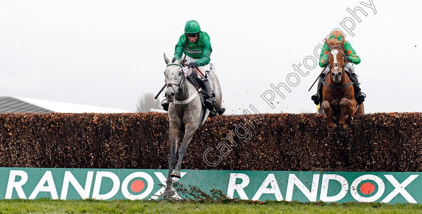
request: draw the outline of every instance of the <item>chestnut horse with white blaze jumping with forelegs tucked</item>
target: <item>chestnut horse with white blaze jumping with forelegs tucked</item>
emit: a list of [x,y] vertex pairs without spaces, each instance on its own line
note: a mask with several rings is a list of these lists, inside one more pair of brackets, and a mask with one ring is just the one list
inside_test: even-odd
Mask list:
[[[327,117],[327,129],[334,132],[338,128],[340,133],[346,134],[349,127],[345,120],[354,115],[363,115],[363,104],[357,105],[355,89],[345,72],[346,61],[344,57],[343,39],[340,43],[334,38],[326,40],[329,50],[329,68],[326,80],[323,82],[323,103],[321,107]],[[347,69],[347,68],[346,68]],[[330,74],[330,75],[329,75]],[[333,121],[338,121],[338,127]]]

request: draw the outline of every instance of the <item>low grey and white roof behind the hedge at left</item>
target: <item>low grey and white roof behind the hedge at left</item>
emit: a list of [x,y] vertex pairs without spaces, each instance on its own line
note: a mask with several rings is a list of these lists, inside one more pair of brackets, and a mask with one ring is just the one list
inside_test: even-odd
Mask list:
[[128,110],[22,97],[0,97],[0,113],[130,113]]

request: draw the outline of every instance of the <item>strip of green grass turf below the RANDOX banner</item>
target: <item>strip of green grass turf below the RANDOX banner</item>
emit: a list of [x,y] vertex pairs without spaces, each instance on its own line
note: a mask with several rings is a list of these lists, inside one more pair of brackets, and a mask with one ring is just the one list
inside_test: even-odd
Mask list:
[[0,213],[422,213],[422,204],[286,201],[0,200]]

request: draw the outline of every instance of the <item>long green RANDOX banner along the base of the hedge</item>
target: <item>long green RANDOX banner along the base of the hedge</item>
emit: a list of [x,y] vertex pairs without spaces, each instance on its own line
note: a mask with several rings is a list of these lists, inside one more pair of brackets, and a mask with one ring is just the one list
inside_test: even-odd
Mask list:
[[[168,170],[0,168],[0,199],[157,199]],[[183,170],[175,198],[192,186],[252,200],[422,203],[422,172]]]

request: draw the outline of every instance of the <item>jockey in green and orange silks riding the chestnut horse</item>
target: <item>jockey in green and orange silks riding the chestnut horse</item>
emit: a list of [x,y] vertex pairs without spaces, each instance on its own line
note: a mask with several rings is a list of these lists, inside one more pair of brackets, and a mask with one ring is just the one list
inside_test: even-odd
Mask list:
[[[337,41],[341,42],[342,39],[344,38],[344,34],[341,31],[333,31],[328,39],[331,38],[335,38]],[[361,92],[361,89],[359,87],[359,81],[358,81],[358,76],[355,74],[354,71],[354,66],[353,64],[359,64],[360,63],[360,58],[359,56],[356,54],[355,49],[352,48],[352,45],[350,45],[349,41],[344,42],[343,44],[343,50],[344,50],[344,54],[346,55],[345,59],[346,59],[346,65],[345,65],[345,71],[351,73],[350,75],[350,80],[353,83],[353,86],[355,87],[355,90],[357,90],[358,92],[358,104],[361,104],[364,100],[366,95],[364,93]],[[322,81],[323,78],[325,77],[325,75],[330,71],[330,68],[328,65],[328,60],[329,60],[329,52],[330,48],[328,47],[327,44],[324,43],[323,49],[321,50],[321,54],[320,54],[320,66],[325,68],[323,71],[323,74],[321,74],[320,78],[318,78],[318,87],[316,89],[316,94],[311,96],[311,100],[313,100],[313,102],[315,103],[315,105],[319,105],[320,104],[320,89],[322,87]],[[327,66],[327,67],[326,67]]]

